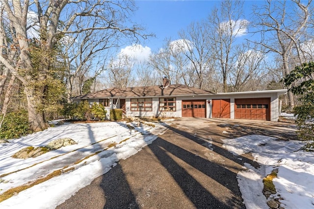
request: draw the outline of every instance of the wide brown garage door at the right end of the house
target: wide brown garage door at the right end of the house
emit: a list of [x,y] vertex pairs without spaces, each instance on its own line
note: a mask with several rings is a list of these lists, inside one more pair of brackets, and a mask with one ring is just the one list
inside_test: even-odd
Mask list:
[[235,99],[235,119],[270,120],[270,98]]

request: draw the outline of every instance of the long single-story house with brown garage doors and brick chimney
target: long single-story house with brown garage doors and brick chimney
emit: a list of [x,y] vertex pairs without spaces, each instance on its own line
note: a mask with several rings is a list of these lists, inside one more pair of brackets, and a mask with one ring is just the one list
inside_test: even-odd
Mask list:
[[[280,95],[286,89],[212,93],[181,84],[109,88],[77,97],[103,104],[107,110],[123,109],[127,117],[196,117],[278,121]],[[107,111],[109,113],[109,111]]]

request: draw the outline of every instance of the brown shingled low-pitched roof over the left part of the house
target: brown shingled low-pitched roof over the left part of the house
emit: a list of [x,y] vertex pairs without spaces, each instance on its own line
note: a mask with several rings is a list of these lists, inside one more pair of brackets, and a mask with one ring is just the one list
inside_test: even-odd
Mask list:
[[101,91],[79,95],[71,99],[91,99],[108,97],[154,97],[154,96],[184,96],[184,95],[209,95],[210,91],[192,88],[181,84],[162,86],[141,86],[129,88],[108,88]]

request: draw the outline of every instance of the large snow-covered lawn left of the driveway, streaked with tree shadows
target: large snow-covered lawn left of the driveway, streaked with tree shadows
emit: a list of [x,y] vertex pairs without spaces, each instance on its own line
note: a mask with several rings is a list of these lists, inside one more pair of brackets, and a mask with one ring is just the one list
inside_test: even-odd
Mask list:
[[[11,143],[0,144],[0,194],[10,188],[35,181],[55,170],[72,168],[60,176],[34,185],[0,203],[1,209],[54,209],[69,199],[80,188],[108,172],[119,159],[126,159],[151,144],[159,134],[167,130],[167,124],[154,123],[155,127],[126,123],[104,122],[90,124],[65,124],[36,132]],[[15,159],[11,156],[28,146],[45,146],[58,138],[72,138],[78,144],[54,150],[39,157]],[[108,145],[116,144],[114,147]],[[99,152],[97,155],[93,155]],[[79,159],[83,161],[75,164]],[[64,169],[64,170],[66,170]]]

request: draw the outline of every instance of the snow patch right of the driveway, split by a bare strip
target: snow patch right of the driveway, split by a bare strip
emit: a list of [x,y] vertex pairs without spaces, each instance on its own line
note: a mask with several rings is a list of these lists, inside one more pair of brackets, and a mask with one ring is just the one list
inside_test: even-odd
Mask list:
[[[268,209],[270,198],[282,198],[285,209],[314,209],[314,153],[299,150],[305,143],[282,141],[263,135],[248,135],[223,139],[224,145],[234,155],[251,152],[261,167],[256,169],[246,163],[246,171],[237,175],[238,185],[247,209]],[[262,179],[278,168],[273,179],[277,193],[268,200],[262,194]]]

